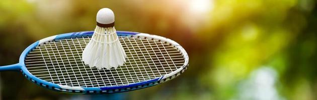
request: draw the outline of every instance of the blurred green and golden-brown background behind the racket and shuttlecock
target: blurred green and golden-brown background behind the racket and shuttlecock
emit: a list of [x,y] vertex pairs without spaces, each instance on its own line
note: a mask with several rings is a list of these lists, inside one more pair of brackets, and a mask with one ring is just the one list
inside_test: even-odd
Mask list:
[[2,99],[317,99],[315,0],[1,0],[0,64],[41,38],[93,30],[109,7],[116,29],[171,38],[189,68],[169,82],[79,95],[0,72]]

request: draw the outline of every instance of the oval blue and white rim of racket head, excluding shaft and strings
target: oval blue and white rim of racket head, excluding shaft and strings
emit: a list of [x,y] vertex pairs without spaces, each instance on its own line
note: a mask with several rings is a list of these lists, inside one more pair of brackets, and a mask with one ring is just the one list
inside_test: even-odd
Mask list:
[[162,36],[150,35],[147,33],[117,31],[117,35],[122,37],[131,36],[131,37],[138,37],[138,38],[151,38],[152,40],[154,39],[154,40],[159,40],[160,42],[169,43],[170,45],[173,45],[175,48],[177,48],[179,52],[183,55],[184,64],[178,69],[173,70],[172,72],[168,74],[164,74],[160,77],[147,79],[144,81],[138,81],[138,82],[130,83],[130,84],[115,85],[115,86],[100,86],[100,87],[68,86],[68,85],[56,84],[56,83],[43,80],[33,75],[28,70],[25,64],[26,57],[28,56],[29,52],[35,49],[37,46],[41,44],[45,44],[46,42],[54,41],[54,40],[70,39],[70,38],[76,38],[76,37],[87,37],[87,36],[91,37],[93,33],[94,31],[71,32],[71,33],[64,33],[64,34],[50,36],[47,38],[43,38],[39,41],[36,41],[30,46],[28,46],[21,54],[20,60],[19,60],[20,61],[19,64],[21,67],[19,70],[28,80],[32,81],[33,83],[39,86],[42,86],[48,89],[52,89],[55,91],[74,92],[74,93],[99,94],[99,93],[114,93],[114,92],[129,91],[129,90],[135,90],[135,89],[153,86],[153,85],[165,82],[167,80],[173,79],[187,69],[188,61],[189,61],[188,54],[185,51],[185,49],[177,42]]

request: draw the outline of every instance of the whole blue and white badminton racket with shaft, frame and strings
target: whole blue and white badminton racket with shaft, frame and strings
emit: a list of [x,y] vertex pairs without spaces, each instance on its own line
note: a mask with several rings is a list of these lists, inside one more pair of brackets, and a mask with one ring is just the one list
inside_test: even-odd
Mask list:
[[55,91],[99,94],[163,83],[187,69],[188,55],[177,42],[147,33],[117,31],[127,58],[118,68],[97,69],[82,61],[94,31],[50,36],[28,46],[19,63],[0,71],[21,71],[33,83]]

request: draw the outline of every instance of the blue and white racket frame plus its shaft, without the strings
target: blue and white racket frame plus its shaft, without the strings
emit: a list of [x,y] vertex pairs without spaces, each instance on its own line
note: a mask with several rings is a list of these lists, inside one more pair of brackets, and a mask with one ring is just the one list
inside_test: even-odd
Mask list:
[[[39,44],[43,44],[47,41],[52,41],[52,40],[58,40],[58,39],[65,39],[65,38],[76,38],[76,37],[86,37],[86,36],[92,36],[94,31],[81,31],[81,32],[70,32],[70,33],[64,33],[64,34],[59,34],[59,35],[54,35],[50,36],[41,40],[38,40],[28,46],[21,54],[19,63],[12,64],[12,65],[6,65],[6,66],[0,66],[0,71],[21,71],[22,74],[30,81],[34,82],[35,84],[52,89],[55,91],[64,91],[64,92],[75,92],[75,93],[85,93],[85,94],[91,94],[91,93],[113,93],[113,92],[122,92],[122,91],[129,91],[129,90],[135,90],[135,89],[140,89],[140,88],[145,88],[149,86],[153,86],[159,83],[162,83],[164,81],[170,80],[172,78],[175,78],[176,76],[180,75],[182,72],[184,72],[187,69],[188,66],[188,55],[186,51],[175,41],[157,36],[157,35],[151,35],[156,38],[161,38],[161,39],[166,39],[169,42],[172,42],[173,44],[176,44],[177,46],[180,47],[180,50],[182,50],[182,53],[184,54],[185,58],[185,64],[182,68],[170,73],[166,74],[161,77],[157,77],[154,79],[142,81],[142,82],[137,82],[137,83],[132,83],[128,85],[120,85],[120,86],[111,86],[111,87],[72,87],[72,86],[65,86],[65,85],[59,85],[55,83],[51,83],[45,80],[42,80],[33,74],[31,74],[28,69],[25,66],[25,57],[27,54],[34,49],[36,46]],[[130,32],[130,31],[117,31],[118,36],[131,36],[131,35],[137,35],[137,34],[142,34],[140,36],[149,36],[149,34],[146,33],[139,33],[139,32]]]

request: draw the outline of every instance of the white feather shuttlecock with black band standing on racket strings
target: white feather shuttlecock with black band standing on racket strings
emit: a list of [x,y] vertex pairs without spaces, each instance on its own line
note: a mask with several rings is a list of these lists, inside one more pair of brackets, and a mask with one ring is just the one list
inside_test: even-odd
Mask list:
[[83,51],[83,61],[98,69],[117,68],[126,61],[126,54],[114,27],[114,13],[109,8],[97,12],[97,26]]

